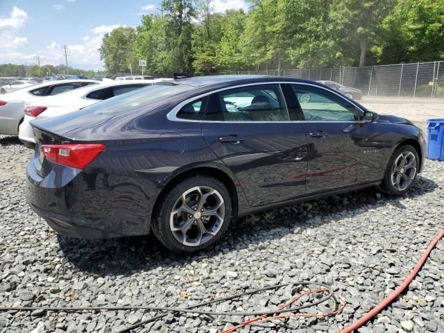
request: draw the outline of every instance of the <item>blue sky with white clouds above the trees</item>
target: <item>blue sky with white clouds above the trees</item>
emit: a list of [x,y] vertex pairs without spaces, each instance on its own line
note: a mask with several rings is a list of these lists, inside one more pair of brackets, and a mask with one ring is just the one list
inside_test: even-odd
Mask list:
[[[65,64],[103,69],[102,37],[118,26],[137,26],[160,13],[161,0],[0,0],[0,64]],[[213,12],[247,9],[244,0],[212,0]]]

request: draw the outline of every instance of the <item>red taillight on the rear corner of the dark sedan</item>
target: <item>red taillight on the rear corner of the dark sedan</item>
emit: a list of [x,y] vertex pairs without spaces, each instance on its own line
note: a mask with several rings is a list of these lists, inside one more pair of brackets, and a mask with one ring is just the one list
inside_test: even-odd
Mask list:
[[42,152],[55,163],[83,170],[99,154],[105,151],[104,144],[44,144]]

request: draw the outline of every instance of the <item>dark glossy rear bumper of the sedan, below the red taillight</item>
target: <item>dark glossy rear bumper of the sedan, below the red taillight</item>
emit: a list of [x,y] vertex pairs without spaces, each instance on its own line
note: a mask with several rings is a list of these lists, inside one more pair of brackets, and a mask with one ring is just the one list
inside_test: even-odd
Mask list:
[[42,178],[34,163],[35,158],[28,163],[26,198],[56,232],[84,239],[149,233],[146,212],[134,205],[122,207],[109,189],[96,187],[98,178],[105,175],[85,175],[56,164],[56,169]]

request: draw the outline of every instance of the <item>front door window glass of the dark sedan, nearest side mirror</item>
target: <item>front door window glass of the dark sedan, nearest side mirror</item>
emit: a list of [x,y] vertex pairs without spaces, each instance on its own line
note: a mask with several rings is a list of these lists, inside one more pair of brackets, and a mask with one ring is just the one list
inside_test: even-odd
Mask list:
[[357,121],[355,105],[316,87],[293,85],[302,115],[306,121]]

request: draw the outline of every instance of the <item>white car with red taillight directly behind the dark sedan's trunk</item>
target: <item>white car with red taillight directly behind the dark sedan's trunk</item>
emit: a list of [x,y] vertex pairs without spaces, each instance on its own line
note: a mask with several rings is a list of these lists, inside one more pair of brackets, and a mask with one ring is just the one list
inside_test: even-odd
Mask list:
[[19,126],[19,139],[28,148],[35,146],[32,119],[46,119],[76,111],[111,97],[130,92],[134,89],[153,85],[158,80],[112,81],[104,82],[99,87],[84,87],[58,96],[47,96],[40,101],[29,103],[24,110],[24,120]]

